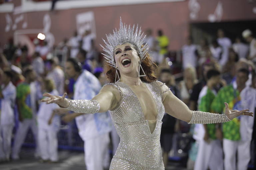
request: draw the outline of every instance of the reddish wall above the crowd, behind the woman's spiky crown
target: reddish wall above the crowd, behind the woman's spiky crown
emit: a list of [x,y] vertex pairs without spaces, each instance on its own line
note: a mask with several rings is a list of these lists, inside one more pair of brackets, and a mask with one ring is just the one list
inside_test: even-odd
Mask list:
[[[55,37],[55,43],[60,42],[65,37],[71,37],[76,29],[75,16],[86,11],[93,11],[96,24],[96,43],[103,43],[101,37],[112,33],[115,27],[119,27],[120,16],[125,23],[141,25],[143,31],[152,28],[154,34],[158,29],[163,29],[170,39],[170,49],[178,49],[185,42],[188,30],[188,10],[187,2],[127,5],[112,7],[97,7],[85,9],[71,9],[54,12],[29,12],[27,17],[27,29],[42,29],[43,16],[49,13],[51,17],[50,32]],[[15,15],[10,14],[15,17]],[[3,45],[10,37],[13,31],[5,33],[5,14],[0,14],[0,43]],[[22,29],[19,23],[17,30]]]

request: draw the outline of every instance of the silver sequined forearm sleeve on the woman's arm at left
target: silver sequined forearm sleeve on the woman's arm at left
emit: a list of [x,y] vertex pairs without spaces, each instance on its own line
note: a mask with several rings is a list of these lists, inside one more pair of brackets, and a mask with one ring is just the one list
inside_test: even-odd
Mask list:
[[97,100],[68,100],[67,109],[76,113],[98,113],[100,104]]

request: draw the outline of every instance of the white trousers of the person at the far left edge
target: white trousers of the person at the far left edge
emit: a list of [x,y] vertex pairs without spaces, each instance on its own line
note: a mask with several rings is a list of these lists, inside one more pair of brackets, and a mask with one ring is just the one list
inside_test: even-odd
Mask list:
[[0,159],[9,159],[14,125],[0,125]]

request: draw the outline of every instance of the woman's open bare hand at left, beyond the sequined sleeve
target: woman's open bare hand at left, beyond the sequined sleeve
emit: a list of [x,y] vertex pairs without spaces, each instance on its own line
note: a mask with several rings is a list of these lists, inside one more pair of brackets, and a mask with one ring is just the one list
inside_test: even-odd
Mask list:
[[50,104],[50,103],[56,103],[58,104],[60,107],[63,108],[67,108],[69,106],[69,102],[68,99],[66,99],[67,93],[64,93],[63,96],[54,96],[51,95],[50,93],[44,93],[43,96],[44,97],[48,97],[46,99],[42,99],[42,102],[46,102],[46,104]]

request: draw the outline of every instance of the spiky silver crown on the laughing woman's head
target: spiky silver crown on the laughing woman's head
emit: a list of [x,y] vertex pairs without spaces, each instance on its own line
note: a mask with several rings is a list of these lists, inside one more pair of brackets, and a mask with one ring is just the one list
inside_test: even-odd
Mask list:
[[[122,19],[120,17],[120,28],[117,31],[113,30],[113,36],[112,35],[107,35],[107,42],[103,40],[103,42],[105,43],[105,47],[102,46],[100,44],[100,46],[103,48],[103,51],[106,52],[106,54],[102,53],[102,55],[105,58],[105,61],[112,67],[116,68],[116,63],[114,61],[114,50],[115,47],[118,45],[122,45],[125,43],[129,43],[131,44],[137,51],[137,53],[139,54],[140,57],[140,61],[142,62],[145,58],[146,58],[146,53],[148,52],[149,49],[149,45],[146,43],[144,44],[144,40],[146,38],[146,35],[144,37],[143,33],[141,34],[141,27],[139,29],[138,32],[138,24],[136,27],[136,30],[134,32],[134,26],[131,28],[130,25],[128,26],[127,29],[127,25],[122,23]],[[144,44],[144,46],[142,47],[142,45]]]

